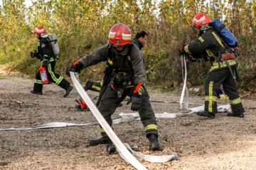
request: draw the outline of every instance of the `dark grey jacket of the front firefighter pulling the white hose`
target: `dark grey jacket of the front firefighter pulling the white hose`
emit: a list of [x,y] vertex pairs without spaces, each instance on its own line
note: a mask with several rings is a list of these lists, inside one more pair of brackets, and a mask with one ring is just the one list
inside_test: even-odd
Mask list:
[[112,67],[113,72],[132,72],[133,85],[145,84],[146,69],[144,64],[144,55],[138,47],[129,45],[124,50],[118,52],[110,44],[99,47],[90,55],[82,57],[79,62],[82,68],[90,67],[99,62],[107,62]]

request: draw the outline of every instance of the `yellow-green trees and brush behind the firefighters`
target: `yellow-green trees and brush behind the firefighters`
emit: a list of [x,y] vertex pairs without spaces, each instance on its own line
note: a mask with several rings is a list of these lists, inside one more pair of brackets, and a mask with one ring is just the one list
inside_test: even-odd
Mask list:
[[[56,72],[65,77],[65,69],[107,43],[110,28],[125,23],[134,37],[139,30],[149,33],[146,47],[148,84],[174,89],[182,82],[178,46],[192,42],[196,33],[191,28],[197,13],[210,19],[220,18],[240,44],[238,61],[245,91],[254,91],[256,69],[256,5],[253,0],[38,0],[26,8],[24,0],[3,0],[0,6],[0,64],[34,77],[39,61],[29,52],[36,49],[33,35],[36,26],[55,33],[60,46]],[[192,63],[188,81],[203,84],[210,64],[203,69]],[[86,79],[101,80],[105,64],[84,69]],[[154,82],[159,82],[154,84]]]

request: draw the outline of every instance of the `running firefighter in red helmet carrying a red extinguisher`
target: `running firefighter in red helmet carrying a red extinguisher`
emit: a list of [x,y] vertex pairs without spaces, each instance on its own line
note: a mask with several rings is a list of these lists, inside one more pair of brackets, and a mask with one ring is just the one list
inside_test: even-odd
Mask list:
[[[64,97],[68,96],[70,94],[70,91],[72,91],[73,86],[70,86],[70,83],[65,80],[60,75],[56,74],[54,72],[55,67],[55,57],[53,56],[53,51],[50,47],[50,40],[48,38],[48,34],[46,33],[46,29],[42,26],[38,26],[34,33],[36,33],[36,38],[39,39],[38,43],[38,52],[36,52],[36,55],[31,53],[31,57],[36,57],[39,60],[41,60],[42,67],[46,67],[46,72],[49,81],[54,82],[61,88],[65,89]],[[36,79],[34,81],[33,90],[31,91],[31,94],[42,94],[43,90],[43,84],[41,81],[41,76],[39,70],[36,72]]]

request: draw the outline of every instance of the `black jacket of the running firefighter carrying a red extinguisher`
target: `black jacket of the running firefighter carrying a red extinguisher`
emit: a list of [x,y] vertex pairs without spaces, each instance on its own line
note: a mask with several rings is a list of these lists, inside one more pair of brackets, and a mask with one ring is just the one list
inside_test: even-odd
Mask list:
[[41,63],[46,62],[53,62],[55,59],[53,58],[53,51],[50,46],[50,39],[48,35],[41,35],[38,42],[38,53],[41,57]]

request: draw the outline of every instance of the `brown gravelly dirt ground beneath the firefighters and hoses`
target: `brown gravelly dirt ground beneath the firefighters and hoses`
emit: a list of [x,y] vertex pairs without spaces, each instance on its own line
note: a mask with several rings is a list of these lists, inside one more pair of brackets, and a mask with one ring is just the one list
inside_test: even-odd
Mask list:
[[[30,94],[32,79],[0,77],[0,129],[21,128],[51,122],[93,123],[90,111],[75,110],[73,90],[68,98],[55,84],[44,86],[43,96]],[[151,100],[178,101],[178,94],[150,92]],[[97,93],[88,92],[90,96]],[[203,96],[190,98],[203,103]],[[95,101],[96,102],[96,101]],[[242,99],[245,108],[255,107],[255,100]],[[227,103],[227,101],[220,101]],[[129,107],[118,113],[132,113]],[[155,113],[178,113],[178,103],[154,103]],[[190,106],[195,107],[195,106]],[[245,118],[228,118],[219,113],[215,119],[196,114],[177,118],[158,118],[160,152],[148,151],[142,123],[134,120],[114,125],[114,132],[129,144],[137,144],[144,154],[163,155],[176,152],[178,160],[164,164],[142,162],[148,169],[256,169],[255,110],[246,109]],[[0,131],[0,169],[134,169],[119,157],[108,155],[106,146],[88,146],[100,137],[97,125],[43,130]]]

